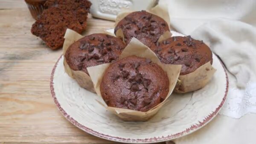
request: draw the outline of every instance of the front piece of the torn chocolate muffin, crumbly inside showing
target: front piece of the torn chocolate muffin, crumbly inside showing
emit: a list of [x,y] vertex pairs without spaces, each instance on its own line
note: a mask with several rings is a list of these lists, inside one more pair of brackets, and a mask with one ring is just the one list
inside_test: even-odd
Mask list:
[[52,7],[44,10],[40,18],[32,25],[31,33],[44,40],[51,49],[58,49],[63,46],[67,29],[80,34],[83,31],[83,27],[71,11]]

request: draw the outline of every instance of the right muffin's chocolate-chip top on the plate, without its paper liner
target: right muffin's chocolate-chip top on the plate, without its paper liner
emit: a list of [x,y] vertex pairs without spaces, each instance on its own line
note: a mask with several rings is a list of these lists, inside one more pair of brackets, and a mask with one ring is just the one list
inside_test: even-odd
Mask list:
[[201,40],[187,37],[170,37],[157,43],[157,48],[152,49],[162,63],[180,64],[180,75],[194,72],[198,67],[207,62],[212,64],[212,51]]

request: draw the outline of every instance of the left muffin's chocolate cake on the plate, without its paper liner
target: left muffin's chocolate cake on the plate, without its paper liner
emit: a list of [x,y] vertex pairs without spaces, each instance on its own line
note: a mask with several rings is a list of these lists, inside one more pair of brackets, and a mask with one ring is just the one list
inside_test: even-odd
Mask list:
[[116,60],[125,48],[119,38],[106,34],[87,35],[73,43],[65,53],[67,64],[74,71],[87,72],[87,67]]

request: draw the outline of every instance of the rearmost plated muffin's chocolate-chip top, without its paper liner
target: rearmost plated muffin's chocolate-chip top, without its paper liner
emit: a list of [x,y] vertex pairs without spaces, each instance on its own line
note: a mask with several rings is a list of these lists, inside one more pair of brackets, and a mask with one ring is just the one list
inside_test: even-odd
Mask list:
[[[169,31],[169,26],[161,17],[141,11],[132,12],[120,20],[115,27],[115,34],[118,29],[122,29],[125,43],[129,43],[132,37],[138,40],[146,38],[148,41],[156,43],[164,32]],[[144,44],[147,45],[147,43]]]

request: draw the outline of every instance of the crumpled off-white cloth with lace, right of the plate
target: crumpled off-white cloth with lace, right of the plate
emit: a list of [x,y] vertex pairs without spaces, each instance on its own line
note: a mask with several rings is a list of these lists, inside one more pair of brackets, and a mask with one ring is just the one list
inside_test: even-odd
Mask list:
[[160,0],[177,32],[204,40],[227,67],[229,92],[205,127],[166,144],[256,144],[256,0]]

